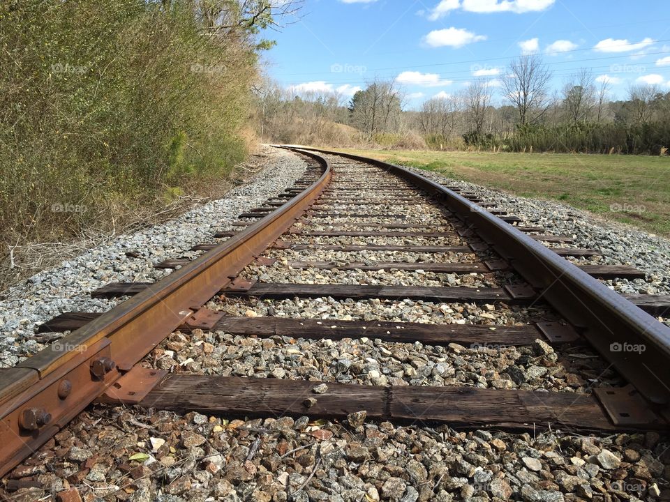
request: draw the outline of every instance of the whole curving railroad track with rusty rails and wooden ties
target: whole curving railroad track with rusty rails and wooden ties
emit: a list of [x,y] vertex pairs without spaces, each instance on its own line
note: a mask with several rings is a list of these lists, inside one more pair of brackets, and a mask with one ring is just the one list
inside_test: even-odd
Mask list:
[[[68,312],[48,321],[41,331],[69,334],[0,370],[3,476],[94,401],[350,421],[364,410],[370,420],[456,429],[667,430],[670,330],[653,316],[667,312],[670,298],[625,298],[598,280],[639,278],[641,271],[575,266],[569,259],[597,251],[400,167],[296,151],[311,162],[303,178],[195,246],[201,257],[156,264],[176,270],[154,284],[91,291],[131,298],[104,314]],[[399,314],[403,303],[420,312]],[[334,305],[348,312],[345,319],[322,319]],[[288,314],[277,314],[288,306]],[[416,361],[412,371],[329,361],[327,371],[307,369],[300,380],[283,378],[274,361],[276,378],[261,379],[253,378],[258,368],[237,371],[229,360],[209,361],[200,369],[210,370],[200,372],[188,371],[190,363],[166,365],[170,347],[184,348],[175,330],[418,343],[489,356],[526,347],[549,365],[564,353],[591,359],[575,363],[584,378],[570,392],[553,391],[556,378],[528,360],[532,378],[511,371],[492,377],[486,365],[479,374],[462,372],[447,358],[440,385],[426,385],[437,377]]]

